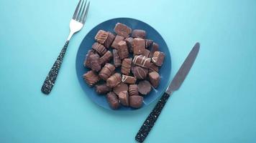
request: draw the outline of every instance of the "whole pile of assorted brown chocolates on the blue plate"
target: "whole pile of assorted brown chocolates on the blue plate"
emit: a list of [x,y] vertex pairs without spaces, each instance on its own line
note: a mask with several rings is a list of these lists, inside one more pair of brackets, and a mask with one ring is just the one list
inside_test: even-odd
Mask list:
[[140,108],[143,96],[160,83],[158,71],[165,54],[157,43],[145,39],[146,31],[142,29],[132,30],[117,23],[114,31],[116,35],[104,30],[96,34],[96,42],[84,61],[91,70],[83,78],[90,87],[95,85],[98,94],[106,94],[112,109],[120,104]]

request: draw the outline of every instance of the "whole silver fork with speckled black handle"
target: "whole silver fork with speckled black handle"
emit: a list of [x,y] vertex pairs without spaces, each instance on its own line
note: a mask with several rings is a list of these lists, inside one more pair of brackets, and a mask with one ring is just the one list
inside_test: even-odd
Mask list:
[[88,14],[88,9],[90,6],[90,1],[88,1],[88,4],[86,5],[87,0],[85,4],[83,4],[83,0],[80,0],[78,2],[78,5],[76,6],[76,11],[73,14],[73,17],[70,21],[69,28],[70,33],[68,35],[67,41],[65,41],[65,45],[63,46],[63,49],[60,51],[60,54],[58,58],[56,59],[55,63],[52,66],[52,69],[50,69],[49,73],[47,74],[47,77],[45,78],[44,84],[42,84],[41,91],[44,94],[50,94],[50,91],[52,90],[52,87],[55,84],[55,80],[58,77],[58,72],[60,70],[60,66],[63,62],[63,58],[65,56],[65,51],[68,48],[68,43],[76,32],[80,31],[83,27],[83,24],[86,21],[86,16]]

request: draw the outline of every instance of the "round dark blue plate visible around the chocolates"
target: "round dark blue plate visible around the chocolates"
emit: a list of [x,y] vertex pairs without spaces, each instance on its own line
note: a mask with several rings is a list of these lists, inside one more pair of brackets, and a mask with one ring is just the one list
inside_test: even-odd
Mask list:
[[[111,31],[114,33],[113,29],[117,22],[126,24],[132,29],[143,29],[147,31],[147,39],[152,39],[157,44],[159,44],[160,51],[163,51],[165,53],[165,61],[163,66],[160,68],[160,84],[157,89],[152,89],[150,94],[147,94],[144,97],[144,104],[141,107],[143,108],[157,100],[163,94],[163,92],[165,92],[165,89],[168,87],[168,84],[170,82],[171,69],[170,51],[168,49],[168,46],[166,45],[163,37],[155,29],[153,29],[152,26],[146,24],[145,22],[139,21],[137,19],[117,18],[104,21],[91,29],[86,37],[84,37],[76,55],[76,74],[78,77],[78,81],[86,96],[88,96],[93,102],[99,104],[105,109],[111,109],[108,102],[106,101],[106,97],[104,95],[97,94],[93,88],[88,87],[86,82],[84,82],[83,74],[86,73],[88,69],[83,66],[83,61],[85,59],[88,49],[91,49],[91,45],[95,42],[94,36],[96,35],[97,31],[103,29],[104,31]],[[134,108],[120,107],[118,110],[134,110]]]

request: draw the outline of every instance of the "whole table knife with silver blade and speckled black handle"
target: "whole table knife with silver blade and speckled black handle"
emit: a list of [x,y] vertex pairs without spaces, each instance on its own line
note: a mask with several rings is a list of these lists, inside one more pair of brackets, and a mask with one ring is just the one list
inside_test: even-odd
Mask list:
[[195,46],[193,46],[193,49],[191,50],[191,52],[188,54],[185,61],[183,62],[183,64],[180,66],[180,69],[178,70],[177,74],[175,74],[175,77],[173,78],[172,82],[170,82],[168,89],[165,91],[163,96],[157,102],[152,112],[148,115],[147,119],[145,119],[145,122],[142,124],[142,127],[140,127],[139,132],[137,132],[137,135],[135,137],[137,142],[143,142],[147,137],[147,134],[150,133],[150,130],[154,126],[155,122],[157,121],[157,118],[159,117],[168,98],[170,97],[171,94],[173,94],[173,92],[175,92],[180,88],[180,85],[183,83],[184,79],[186,78],[188,71],[190,71],[191,66],[193,65],[193,62],[196,59],[199,49],[200,49],[200,44],[196,43]]

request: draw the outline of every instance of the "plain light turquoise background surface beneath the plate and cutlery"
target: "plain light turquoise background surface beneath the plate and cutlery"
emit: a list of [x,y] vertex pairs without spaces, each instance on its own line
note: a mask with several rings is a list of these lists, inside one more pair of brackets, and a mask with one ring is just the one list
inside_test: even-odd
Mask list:
[[68,46],[55,88],[40,92],[68,36],[77,1],[0,1],[0,142],[134,142],[154,107],[111,112],[76,78],[76,52],[107,19],[145,21],[172,54],[172,75],[196,41],[201,51],[145,142],[256,142],[256,1],[91,0],[86,26]]

